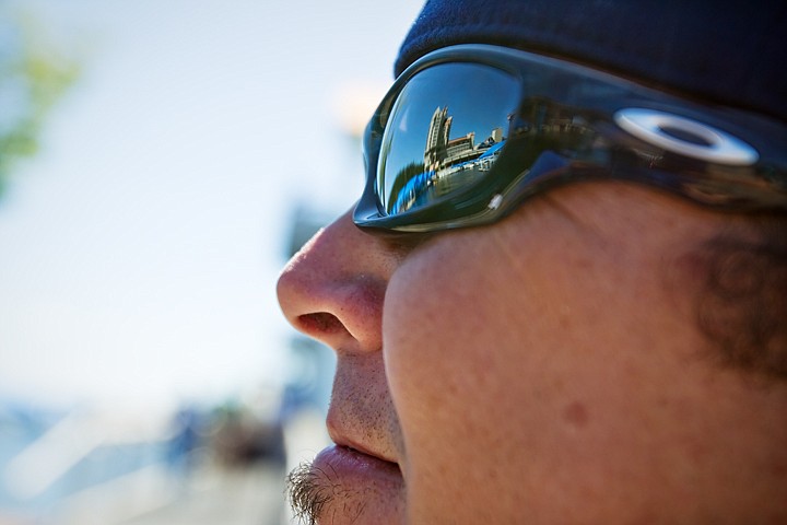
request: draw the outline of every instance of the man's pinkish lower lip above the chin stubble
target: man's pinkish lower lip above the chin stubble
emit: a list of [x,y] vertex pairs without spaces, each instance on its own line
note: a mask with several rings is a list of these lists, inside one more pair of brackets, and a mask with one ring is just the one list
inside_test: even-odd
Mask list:
[[[399,466],[346,446],[331,445],[314,460],[314,467],[331,472],[343,485],[368,483],[369,481],[395,483],[401,487]],[[332,476],[331,476],[332,477]]]

